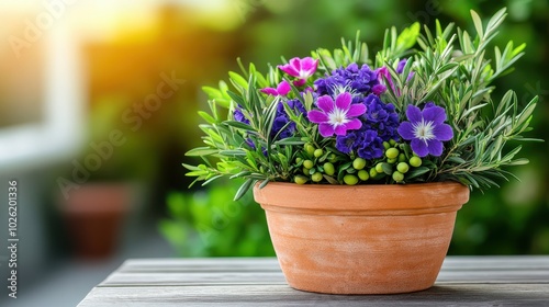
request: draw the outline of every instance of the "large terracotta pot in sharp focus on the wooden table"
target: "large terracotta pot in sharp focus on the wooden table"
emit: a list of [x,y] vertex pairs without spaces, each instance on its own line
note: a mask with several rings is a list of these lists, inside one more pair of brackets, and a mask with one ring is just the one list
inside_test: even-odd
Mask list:
[[288,284],[391,294],[435,283],[469,189],[453,182],[254,189]]

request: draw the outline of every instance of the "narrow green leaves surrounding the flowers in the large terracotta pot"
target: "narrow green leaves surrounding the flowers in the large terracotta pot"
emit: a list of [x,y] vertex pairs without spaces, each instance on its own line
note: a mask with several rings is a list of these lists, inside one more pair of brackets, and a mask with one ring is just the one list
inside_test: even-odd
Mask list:
[[[471,11],[471,16],[474,35],[459,27],[455,31],[451,23],[442,29],[438,21],[434,32],[427,26],[421,32],[418,23],[400,34],[391,27],[386,30],[383,48],[374,59],[369,57],[368,46],[358,39],[358,34],[354,44],[343,41],[341,48],[334,52],[321,48],[312,53],[320,61],[316,76],[352,62],[371,65],[374,61],[376,67],[386,67],[394,87],[388,87],[381,98],[395,106],[401,121],[405,120],[406,107],[411,104],[421,106],[435,102],[446,110],[453,138],[446,144],[442,155],[428,156],[422,167],[407,174],[395,172],[394,162],[384,158],[368,161],[369,174],[374,182],[458,181],[482,190],[498,186],[497,180],[507,180],[512,175],[507,167],[528,162],[516,158],[522,147],[515,144],[509,147],[508,143],[535,140],[524,138],[523,133],[530,130],[538,99],[531,99],[524,110],[518,110],[513,91],[500,101],[491,96],[492,81],[512,70],[512,65],[523,56],[525,45],[514,47],[513,42],[508,42],[503,52],[495,47],[494,58],[489,57],[489,43],[498,33],[497,29],[506,16],[505,9],[496,12],[485,26],[474,11]],[[418,49],[414,48],[416,45]],[[408,60],[403,72],[397,73],[396,66],[402,58]],[[358,183],[355,175],[358,170],[350,167],[355,152],[339,152],[334,138],[320,136],[316,125],[293,111],[280,95],[274,98],[259,92],[260,88],[276,87],[282,80],[278,70],[270,67],[264,76],[253,64],[245,69],[238,62],[243,75],[228,73],[235,91],[228,90],[225,83],[220,83],[220,89],[205,88],[211,113],[199,114],[206,121],[200,126],[206,134],[203,137],[206,147],[187,152],[187,156],[202,158],[204,163],[184,164],[190,171],[188,175],[197,177],[197,181],[204,181],[204,184],[223,177],[245,179],[235,198],[242,197],[257,182],[261,185],[269,181]],[[386,78],[385,83],[390,83]],[[311,81],[309,86],[313,86]],[[314,107],[311,93],[302,94],[294,86],[290,96],[299,99],[306,112]],[[227,107],[227,102],[229,115],[222,118],[217,106]],[[287,125],[295,125],[296,132],[291,137],[272,135],[279,104],[290,118]],[[233,117],[237,107],[246,122]],[[313,156],[307,146],[323,155]],[[406,159],[411,159],[410,146],[406,143],[399,146],[406,152]],[[306,160],[313,161],[311,168],[303,166]],[[335,166],[334,175],[326,174],[323,169],[328,161]],[[385,167],[372,171],[379,163]]]

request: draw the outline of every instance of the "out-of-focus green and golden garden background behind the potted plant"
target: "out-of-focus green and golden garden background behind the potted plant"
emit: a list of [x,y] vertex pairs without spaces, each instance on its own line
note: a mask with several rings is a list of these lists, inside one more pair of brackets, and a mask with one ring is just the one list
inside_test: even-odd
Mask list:
[[[22,21],[43,12],[41,5],[29,13],[5,4],[10,10],[0,13],[7,20],[0,34],[22,37]],[[134,217],[132,230],[126,230],[133,236],[131,245],[139,242],[138,229],[152,228],[170,242],[177,255],[273,254],[261,208],[250,195],[237,203],[232,201],[238,182],[188,189],[191,179],[184,177],[181,163],[198,162],[184,157],[184,152],[201,145],[197,111],[208,107],[201,87],[216,86],[219,80],[227,79],[227,71],[237,71],[237,57],[245,65],[254,62],[259,70],[266,70],[267,64],[280,64],[281,56],[305,57],[318,47],[339,47],[341,37],[352,39],[357,31],[374,54],[382,45],[384,30],[392,25],[402,30],[418,21],[434,29],[438,19],[442,24],[456,22],[472,33],[470,10],[486,21],[502,7],[507,7],[508,16],[493,45],[502,48],[513,41],[515,45],[526,43],[527,47],[516,70],[497,80],[493,96],[497,100],[507,89],[514,89],[524,105],[539,95],[535,130],[529,136],[545,139],[549,132],[548,0],[77,1],[66,7],[51,30],[44,30],[21,57],[13,56],[13,46],[0,46],[0,69],[10,77],[0,82],[0,132],[18,121],[40,121],[40,112],[31,112],[40,110],[40,104],[10,103],[10,95],[32,92],[30,100],[34,101],[47,89],[47,82],[36,77],[42,70],[34,66],[45,69],[47,65],[41,65],[42,52],[55,44],[46,36],[63,25],[77,46],[81,66],[83,99],[71,102],[83,110],[81,140],[74,145],[76,149],[52,162],[34,159],[32,166],[42,164],[32,170],[30,162],[11,164],[7,167],[9,172],[0,175],[40,186],[26,190],[36,191],[29,194],[34,198],[26,202],[33,203],[26,207],[33,208],[35,217],[22,218],[26,220],[24,227],[34,229],[26,232],[27,237],[40,238],[40,245],[32,248],[42,247],[54,254],[49,259],[69,254],[71,231],[60,223],[64,214],[59,178],[74,179],[75,161],[85,164],[97,155],[96,145],[120,132],[124,143],[115,146],[112,155],[79,184],[137,186],[134,191],[138,193],[132,195],[134,204],[128,206],[128,215]],[[158,93],[166,76],[175,76],[179,83],[158,107],[143,111],[143,104],[150,94]],[[10,93],[13,89],[16,93]],[[14,105],[25,106],[26,111],[14,112]],[[520,181],[501,182],[501,189],[472,194],[458,214],[449,254],[549,253],[548,146],[524,145],[522,156],[530,163],[513,170]],[[2,148],[12,150],[9,145]],[[25,168],[29,180],[21,174]]]

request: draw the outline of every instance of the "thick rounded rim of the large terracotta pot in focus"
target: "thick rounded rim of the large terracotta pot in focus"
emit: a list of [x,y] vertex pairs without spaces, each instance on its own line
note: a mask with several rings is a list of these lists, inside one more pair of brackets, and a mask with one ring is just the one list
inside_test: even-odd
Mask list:
[[254,186],[254,198],[271,211],[417,215],[456,212],[469,201],[469,192],[468,186],[451,181],[359,185],[269,182],[262,189],[259,183]]

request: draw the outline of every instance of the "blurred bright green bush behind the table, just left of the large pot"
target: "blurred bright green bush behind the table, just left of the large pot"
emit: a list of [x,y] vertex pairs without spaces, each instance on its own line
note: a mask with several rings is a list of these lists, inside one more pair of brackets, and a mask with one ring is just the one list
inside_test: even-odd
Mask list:
[[159,230],[181,257],[273,255],[265,214],[251,195],[233,201],[234,183],[167,197]]

